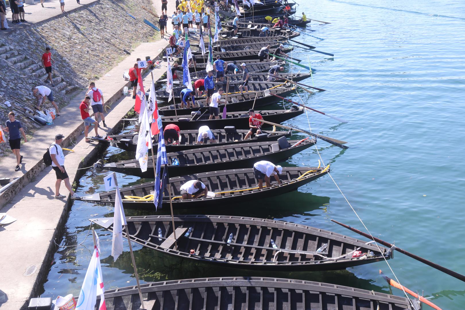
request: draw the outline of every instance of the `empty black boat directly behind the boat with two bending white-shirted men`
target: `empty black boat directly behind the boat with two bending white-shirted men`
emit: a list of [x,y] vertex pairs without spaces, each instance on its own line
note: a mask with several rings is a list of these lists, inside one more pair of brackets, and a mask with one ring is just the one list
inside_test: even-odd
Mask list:
[[[168,159],[168,175],[172,177],[195,174],[206,171],[219,171],[233,168],[252,167],[259,160],[272,163],[286,161],[310,146],[316,140],[259,141],[234,145],[206,146],[191,150],[166,153]],[[156,153],[156,149],[155,152]],[[156,157],[156,155],[154,155]],[[177,159],[179,165],[172,165]],[[115,171],[141,178],[155,178],[153,162],[147,163],[147,170],[141,171],[137,159],[117,161],[103,165],[104,170]]]

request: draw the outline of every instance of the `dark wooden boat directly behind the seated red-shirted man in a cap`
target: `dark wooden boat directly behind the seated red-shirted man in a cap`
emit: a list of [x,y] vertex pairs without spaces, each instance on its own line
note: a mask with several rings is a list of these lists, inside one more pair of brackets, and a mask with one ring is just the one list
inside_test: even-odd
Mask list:
[[[302,114],[303,108],[292,106],[289,110],[266,110],[260,111],[256,110],[265,120],[268,120],[273,123],[281,123],[288,119],[292,119],[296,116]],[[249,128],[249,114],[247,111],[239,112],[227,112],[226,119],[208,119],[210,115],[204,113],[199,117],[195,116],[194,118],[187,117],[186,115],[178,116],[162,116],[161,121],[162,125],[166,126],[168,124],[178,125],[181,130],[188,129],[199,129],[200,126],[207,125],[211,129],[224,128],[225,126],[234,126],[238,129],[247,129]],[[191,120],[192,119],[192,120]],[[266,128],[269,125],[264,124],[263,127]]]

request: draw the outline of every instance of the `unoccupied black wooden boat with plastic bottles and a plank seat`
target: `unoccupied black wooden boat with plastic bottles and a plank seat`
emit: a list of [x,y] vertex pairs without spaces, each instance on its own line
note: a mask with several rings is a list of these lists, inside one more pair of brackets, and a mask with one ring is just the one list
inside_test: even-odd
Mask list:
[[[113,218],[102,220],[108,222],[98,219],[95,223],[112,231]],[[126,217],[126,222],[133,242],[176,257],[230,268],[288,272],[342,270],[391,256],[389,249],[369,242],[264,218],[179,215],[174,217],[176,239],[169,215]],[[190,254],[191,249],[195,254]]]

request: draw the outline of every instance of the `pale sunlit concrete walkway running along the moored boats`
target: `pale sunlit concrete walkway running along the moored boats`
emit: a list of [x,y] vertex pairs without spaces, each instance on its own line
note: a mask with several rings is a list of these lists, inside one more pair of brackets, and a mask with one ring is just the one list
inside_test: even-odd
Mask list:
[[[83,1],[81,0],[81,3]],[[158,4],[158,1],[156,2]],[[174,1],[170,1],[168,11],[173,10]],[[119,98],[122,88],[127,85],[122,78],[122,73],[134,65],[136,58],[144,59],[145,56],[151,56],[153,59],[166,46],[166,40],[142,43],[118,66],[96,81],[96,86],[103,90],[106,104],[113,102],[111,111],[105,118],[108,128],[99,129],[102,136],[116,128],[119,120],[134,105],[131,96]],[[158,79],[165,72],[166,66],[153,70],[154,78]],[[150,81],[151,75],[149,74],[144,79],[144,85],[150,86]],[[61,115],[55,119],[54,125],[45,126],[36,131],[33,140],[21,146],[21,152],[25,155],[24,164],[21,166],[22,171],[14,173],[13,168],[16,164],[13,155],[2,160],[1,176],[35,174],[31,183],[27,181],[24,185],[20,185],[19,188],[22,189],[19,193],[1,209],[1,212],[17,218],[17,221],[12,224],[0,226],[0,292],[3,291],[7,297],[7,302],[1,305],[2,310],[25,309],[29,298],[40,294],[40,283],[46,277],[55,251],[53,240],[60,237],[60,228],[66,221],[71,201],[53,198],[56,180],[54,172],[51,171],[51,167],[40,171],[42,167],[38,165],[46,148],[53,142],[55,134],[64,134],[65,143],[72,139],[74,134],[76,135],[74,139],[77,145],[68,146],[74,152],[65,151],[65,166],[70,180],[74,179],[81,162],[84,167],[93,165],[90,159],[95,155],[96,149],[93,145],[89,146],[85,143],[84,135],[80,133],[83,130],[83,124],[78,106],[84,94],[85,91],[81,92],[68,106],[60,109]],[[34,169],[35,173],[32,173]],[[63,184],[60,193],[68,194]]]

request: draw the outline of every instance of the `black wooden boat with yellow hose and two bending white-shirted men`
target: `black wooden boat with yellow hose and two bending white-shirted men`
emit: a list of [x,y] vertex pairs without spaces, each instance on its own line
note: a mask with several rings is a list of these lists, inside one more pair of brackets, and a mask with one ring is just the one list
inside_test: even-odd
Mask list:
[[[283,167],[279,179],[282,184],[272,181],[272,187],[262,188],[257,186],[253,168],[234,169],[214,172],[191,174],[183,177],[169,179],[171,203],[174,209],[191,208],[218,208],[229,204],[250,202],[253,199],[265,199],[278,196],[290,191],[295,191],[299,186],[306,185],[329,171],[329,166],[324,167]],[[170,173],[170,172],[168,172]],[[180,200],[180,187],[189,180],[199,180],[215,195],[209,197]],[[120,189],[123,207],[125,209],[153,210],[153,187],[155,182],[142,183],[127,186]],[[111,204],[114,206],[115,191],[94,193],[80,198],[98,204]],[[163,207],[170,207],[168,188],[163,194]]]

